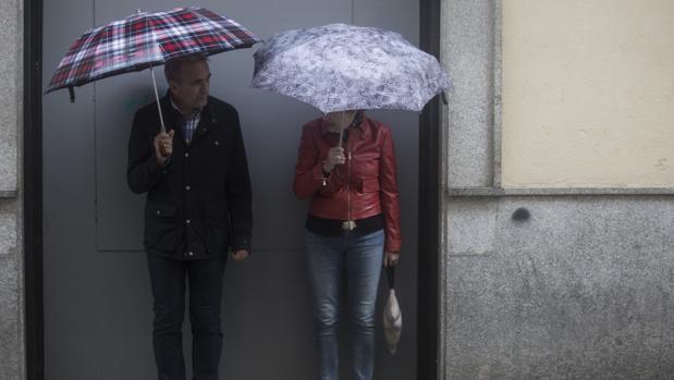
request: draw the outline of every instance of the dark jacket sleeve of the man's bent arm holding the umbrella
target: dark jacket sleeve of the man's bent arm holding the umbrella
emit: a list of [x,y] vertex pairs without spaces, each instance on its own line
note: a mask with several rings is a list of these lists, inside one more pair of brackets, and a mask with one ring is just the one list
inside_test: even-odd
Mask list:
[[132,192],[149,192],[166,174],[166,167],[157,163],[155,158],[155,136],[145,132],[139,112],[134,115],[128,137],[126,182]]

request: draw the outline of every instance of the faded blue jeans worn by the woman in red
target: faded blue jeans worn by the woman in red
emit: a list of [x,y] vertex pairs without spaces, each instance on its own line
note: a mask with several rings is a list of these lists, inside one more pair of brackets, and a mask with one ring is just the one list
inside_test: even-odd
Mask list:
[[338,324],[342,270],[346,270],[348,286],[352,379],[372,379],[375,307],[383,262],[383,230],[368,234],[345,231],[340,236],[306,231],[321,380],[339,378]]

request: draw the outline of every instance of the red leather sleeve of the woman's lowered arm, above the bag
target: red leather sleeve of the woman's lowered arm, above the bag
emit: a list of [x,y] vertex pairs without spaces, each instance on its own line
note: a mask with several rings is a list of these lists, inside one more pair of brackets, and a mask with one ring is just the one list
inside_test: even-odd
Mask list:
[[401,209],[397,193],[397,169],[393,136],[385,128],[379,163],[380,199],[385,224],[384,250],[400,252],[403,244],[401,234]]

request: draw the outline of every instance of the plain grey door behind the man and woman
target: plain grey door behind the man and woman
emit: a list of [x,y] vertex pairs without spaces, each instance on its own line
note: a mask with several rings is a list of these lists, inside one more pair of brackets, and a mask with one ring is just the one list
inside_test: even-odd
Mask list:
[[[280,29],[351,22],[401,32],[414,44],[420,38],[419,17],[408,15],[428,11],[424,2],[419,5],[403,0],[387,1],[387,12],[381,11],[380,4],[367,1],[274,4],[200,3],[234,17],[262,38]],[[171,7],[161,2],[152,5],[147,10]],[[78,13],[73,14],[73,9]],[[273,17],[260,20],[259,9],[268,10]],[[44,1],[44,14],[48,16],[44,17],[39,52],[46,68],[41,83],[49,79],[66,47],[83,30],[134,11],[130,1],[114,5],[81,0]],[[255,254],[243,263],[231,261],[225,274],[222,368],[228,379],[311,379],[315,360],[301,237],[306,205],[293,197],[291,181],[299,126],[319,113],[294,99],[248,88],[254,50],[211,58],[211,91],[238,109],[254,184]],[[33,105],[40,100],[44,103],[41,162],[33,168],[41,171],[42,200],[35,213],[41,213],[42,222],[35,225],[35,231],[41,230],[44,244],[37,249],[27,247],[26,253],[34,255],[33,259],[41,256],[44,266],[42,286],[38,287],[44,292],[42,363],[49,379],[154,376],[151,298],[140,246],[143,198],[132,195],[124,180],[131,117],[151,99],[148,75],[134,73],[77,88],[77,101],[73,105],[63,93],[33,100]],[[425,175],[418,168],[429,169],[419,161],[426,159],[418,143],[419,118],[395,111],[369,114],[391,125],[396,139],[405,238],[397,280],[405,312],[404,339],[399,356],[391,357],[383,350],[378,329],[377,378],[430,379],[417,376],[417,353],[426,348],[418,346],[421,339],[415,329],[417,303],[421,307],[433,304],[417,299],[417,283],[428,282],[417,278],[417,210],[421,210],[417,199],[421,199],[420,204],[428,200],[418,196],[419,175]],[[421,122],[427,121],[421,118]],[[26,144],[33,137],[27,136]],[[419,221],[419,225],[426,224]],[[419,231],[428,233],[426,229]],[[41,250],[41,255],[36,250]],[[432,256],[428,250],[425,255]],[[27,259],[27,270],[39,266],[28,268],[29,263]],[[384,299],[383,285],[384,281],[379,310]],[[33,298],[30,294],[27,297]],[[428,329],[428,324],[421,327],[424,331]],[[39,341],[39,331],[36,332],[37,336],[29,341]],[[431,341],[434,344],[434,336]],[[28,348],[39,363],[39,347],[34,354]],[[429,370],[429,376],[434,377],[434,370]]]

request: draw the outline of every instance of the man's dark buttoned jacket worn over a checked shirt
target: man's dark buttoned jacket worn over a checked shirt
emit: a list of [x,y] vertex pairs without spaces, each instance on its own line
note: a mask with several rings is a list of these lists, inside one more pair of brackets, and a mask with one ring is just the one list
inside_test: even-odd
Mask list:
[[249,250],[250,179],[236,110],[209,97],[186,145],[169,96],[160,103],[167,132],[175,128],[168,164],[155,158],[161,125],[156,102],[136,112],[128,139],[128,186],[147,192],[145,248],[180,259],[221,255],[228,247]]

